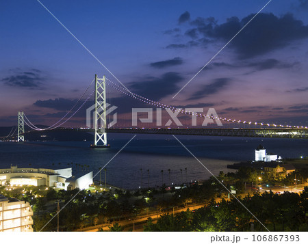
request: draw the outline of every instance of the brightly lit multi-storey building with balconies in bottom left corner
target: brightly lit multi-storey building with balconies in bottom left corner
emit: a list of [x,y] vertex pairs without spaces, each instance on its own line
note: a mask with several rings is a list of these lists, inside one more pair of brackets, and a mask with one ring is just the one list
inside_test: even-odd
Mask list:
[[0,195],[0,232],[32,232],[32,216],[29,202]]

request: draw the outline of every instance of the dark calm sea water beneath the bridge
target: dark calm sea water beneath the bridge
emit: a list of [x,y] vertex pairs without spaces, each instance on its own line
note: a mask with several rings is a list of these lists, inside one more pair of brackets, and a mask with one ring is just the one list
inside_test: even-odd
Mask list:
[[[90,148],[90,141],[1,141],[0,167],[57,170],[73,163],[73,174],[92,171],[95,180],[101,177],[105,182],[106,175],[109,185],[138,189],[206,180],[220,171],[231,172],[227,165],[254,160],[259,144],[282,158],[308,156],[307,139],[176,135],[186,149],[172,135],[138,134],[123,148],[132,137],[110,133],[110,148],[102,149]],[[101,176],[100,167],[106,168]]]

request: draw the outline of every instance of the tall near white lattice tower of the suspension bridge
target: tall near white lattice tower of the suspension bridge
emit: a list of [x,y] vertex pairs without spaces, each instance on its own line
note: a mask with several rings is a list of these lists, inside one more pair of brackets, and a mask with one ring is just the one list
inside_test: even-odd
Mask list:
[[109,148],[107,144],[106,79],[95,74],[94,144],[90,148]]

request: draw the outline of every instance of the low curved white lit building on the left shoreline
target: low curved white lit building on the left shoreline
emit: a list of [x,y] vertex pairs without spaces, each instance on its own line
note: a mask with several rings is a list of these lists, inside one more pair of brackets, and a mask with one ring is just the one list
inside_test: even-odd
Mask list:
[[[0,170],[0,185],[34,185],[37,187],[47,186],[67,190],[68,185],[70,185],[69,189],[80,187],[81,182],[84,182],[85,179],[88,179],[90,184],[93,183],[92,172],[81,173],[78,176],[74,176],[73,180],[68,180],[71,177],[73,177],[71,167],[61,170],[50,170],[11,166],[10,169]],[[88,187],[83,187],[82,189],[84,188]]]

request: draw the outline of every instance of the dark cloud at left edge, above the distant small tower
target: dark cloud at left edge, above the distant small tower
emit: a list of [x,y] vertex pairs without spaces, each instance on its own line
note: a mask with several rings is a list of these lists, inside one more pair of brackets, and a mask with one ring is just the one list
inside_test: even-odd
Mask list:
[[[13,71],[13,70],[11,70]],[[15,69],[13,75],[4,77],[0,81],[5,85],[12,87],[25,87],[29,89],[41,89],[43,81],[45,80],[40,76],[41,71],[36,69],[31,69],[30,71],[20,71]]]

